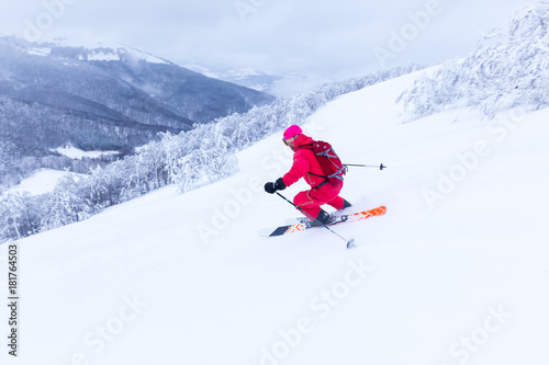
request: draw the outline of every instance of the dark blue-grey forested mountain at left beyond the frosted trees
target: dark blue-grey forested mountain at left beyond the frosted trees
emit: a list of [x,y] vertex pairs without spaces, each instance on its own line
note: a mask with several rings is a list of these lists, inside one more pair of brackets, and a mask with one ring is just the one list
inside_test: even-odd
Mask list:
[[0,184],[18,158],[64,145],[131,150],[273,99],[131,47],[0,36],[0,160],[12,156]]

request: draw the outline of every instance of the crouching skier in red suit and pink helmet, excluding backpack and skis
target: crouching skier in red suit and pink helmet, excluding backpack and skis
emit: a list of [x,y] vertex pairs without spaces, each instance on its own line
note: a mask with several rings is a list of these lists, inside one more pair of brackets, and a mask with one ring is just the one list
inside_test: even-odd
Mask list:
[[276,182],[265,184],[265,191],[273,194],[276,191],[284,190],[301,178],[311,185],[311,190],[298,193],[293,198],[293,204],[307,218],[312,219],[312,226],[329,224],[332,216],[321,208],[321,205],[328,204],[337,210],[350,207],[351,204],[339,196],[343,187],[343,180],[329,182],[324,174],[316,156],[311,149],[303,148],[311,146],[315,141],[303,134],[298,125],[292,125],[284,130],[282,141],[290,147],[293,153],[293,166],[290,171]]

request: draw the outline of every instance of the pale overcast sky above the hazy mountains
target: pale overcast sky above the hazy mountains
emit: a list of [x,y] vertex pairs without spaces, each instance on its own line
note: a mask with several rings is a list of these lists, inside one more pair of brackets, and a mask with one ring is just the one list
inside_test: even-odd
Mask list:
[[525,0],[0,0],[0,32],[325,79],[466,56]]

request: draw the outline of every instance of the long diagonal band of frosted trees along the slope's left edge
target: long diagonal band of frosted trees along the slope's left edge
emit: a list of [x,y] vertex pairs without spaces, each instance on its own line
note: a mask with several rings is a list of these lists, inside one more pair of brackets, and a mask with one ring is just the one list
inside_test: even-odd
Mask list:
[[421,68],[414,65],[335,82],[293,98],[277,99],[245,114],[197,124],[178,135],[160,134],[160,140],[141,147],[137,153],[90,169],[87,179],[63,178],[52,193],[4,194],[0,199],[0,241],[80,221],[168,184],[178,184],[182,192],[188,192],[224,179],[237,171],[236,151],[287,125],[302,123],[341,94]]

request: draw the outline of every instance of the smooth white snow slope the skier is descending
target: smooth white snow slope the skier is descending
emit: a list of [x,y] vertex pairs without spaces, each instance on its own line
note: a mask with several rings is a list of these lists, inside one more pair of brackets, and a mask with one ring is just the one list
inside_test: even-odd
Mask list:
[[388,206],[335,228],[356,250],[257,237],[296,216],[262,192],[291,163],[274,135],[229,179],[20,241],[20,356],[4,345],[2,364],[548,364],[549,110],[402,124],[394,100],[428,71],[307,119],[347,163],[389,167],[346,179],[357,208]]

